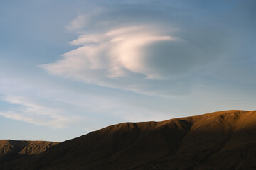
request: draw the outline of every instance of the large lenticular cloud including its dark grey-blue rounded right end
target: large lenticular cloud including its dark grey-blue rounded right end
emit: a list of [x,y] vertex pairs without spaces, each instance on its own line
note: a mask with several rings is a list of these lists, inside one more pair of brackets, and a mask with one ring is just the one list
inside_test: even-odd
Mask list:
[[41,67],[50,74],[88,84],[154,94],[143,90],[146,84],[155,87],[161,81],[191,72],[203,55],[186,40],[164,32],[156,26],[128,26],[82,34],[70,42],[81,47]]

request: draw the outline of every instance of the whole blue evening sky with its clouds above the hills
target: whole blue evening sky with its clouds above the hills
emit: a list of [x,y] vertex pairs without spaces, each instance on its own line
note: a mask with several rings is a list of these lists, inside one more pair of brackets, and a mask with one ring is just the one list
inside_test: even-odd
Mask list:
[[0,1],[0,139],[255,110],[256,1]]

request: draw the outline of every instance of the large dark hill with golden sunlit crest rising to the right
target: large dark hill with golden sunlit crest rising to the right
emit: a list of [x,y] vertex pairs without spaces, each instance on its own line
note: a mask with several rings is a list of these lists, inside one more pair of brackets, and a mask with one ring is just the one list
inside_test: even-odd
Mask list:
[[256,111],[112,125],[0,169],[256,169]]

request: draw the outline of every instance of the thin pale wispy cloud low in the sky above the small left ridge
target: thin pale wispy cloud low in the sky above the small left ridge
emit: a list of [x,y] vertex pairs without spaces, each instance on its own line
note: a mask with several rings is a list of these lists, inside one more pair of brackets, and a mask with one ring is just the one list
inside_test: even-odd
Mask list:
[[53,128],[64,128],[66,125],[79,120],[78,116],[65,115],[60,109],[41,106],[28,98],[5,96],[3,99],[10,104],[18,106],[15,109],[16,111],[1,111],[0,115],[5,118]]

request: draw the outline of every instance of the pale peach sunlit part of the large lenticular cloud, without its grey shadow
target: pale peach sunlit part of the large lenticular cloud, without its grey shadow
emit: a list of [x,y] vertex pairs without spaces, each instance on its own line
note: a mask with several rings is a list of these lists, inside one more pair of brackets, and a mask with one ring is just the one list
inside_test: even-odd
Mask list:
[[156,42],[177,40],[176,37],[161,35],[149,26],[129,26],[102,34],[83,34],[70,42],[80,47],[63,54],[63,59],[42,67],[51,74],[125,89],[124,86],[130,85],[124,81],[125,77],[163,79],[157,69],[149,67],[144,50]]

